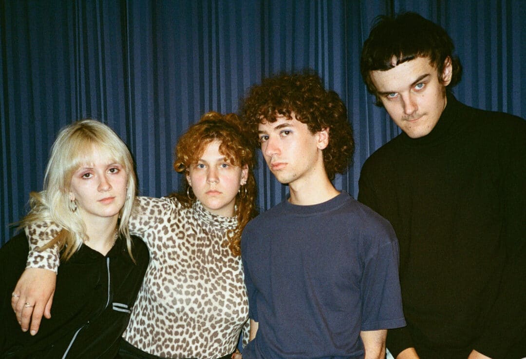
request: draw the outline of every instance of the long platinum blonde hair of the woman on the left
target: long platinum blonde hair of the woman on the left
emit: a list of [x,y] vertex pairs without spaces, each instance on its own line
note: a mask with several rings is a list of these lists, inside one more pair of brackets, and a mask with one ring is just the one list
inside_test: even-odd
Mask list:
[[122,164],[127,174],[126,201],[119,212],[118,231],[126,238],[131,254],[131,239],[128,220],[135,205],[137,178],[134,163],[126,144],[107,125],[96,120],[81,120],[60,130],[53,143],[51,156],[44,176],[44,190],[31,192],[31,211],[21,221],[21,227],[38,222],[54,222],[62,228],[59,234],[40,250],[58,246],[61,258],[69,259],[82,243],[88,239],[86,227],[78,212],[72,211],[69,200],[70,183],[75,171],[82,164],[92,161],[94,149],[101,149],[112,159]]

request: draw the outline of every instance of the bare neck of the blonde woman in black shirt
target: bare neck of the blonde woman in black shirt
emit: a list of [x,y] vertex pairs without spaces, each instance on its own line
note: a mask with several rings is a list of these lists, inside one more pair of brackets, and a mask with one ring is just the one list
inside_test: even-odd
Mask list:
[[106,255],[112,249],[116,240],[118,216],[85,220],[88,241],[84,244],[89,248]]

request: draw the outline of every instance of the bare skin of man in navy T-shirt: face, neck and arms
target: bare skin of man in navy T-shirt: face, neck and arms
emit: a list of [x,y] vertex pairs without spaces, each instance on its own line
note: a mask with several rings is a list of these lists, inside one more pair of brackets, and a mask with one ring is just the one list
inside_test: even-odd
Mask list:
[[[276,179],[289,185],[294,205],[316,205],[338,196],[332,186],[325,165],[323,149],[329,144],[329,130],[310,132],[308,126],[296,119],[277,117],[275,122],[258,125],[261,152]],[[250,320],[250,340],[256,337],[259,323]],[[362,331],[366,359],[385,357],[386,330]]]

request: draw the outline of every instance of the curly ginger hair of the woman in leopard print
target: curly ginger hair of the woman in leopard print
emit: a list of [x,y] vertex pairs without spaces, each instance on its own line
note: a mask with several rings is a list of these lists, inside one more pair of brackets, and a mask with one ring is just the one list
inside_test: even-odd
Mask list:
[[[256,164],[255,147],[241,131],[241,121],[235,113],[222,115],[218,112],[207,112],[199,122],[190,126],[188,131],[181,136],[175,147],[174,169],[186,174],[189,173],[190,165],[197,163],[205,152],[210,142],[219,141],[219,152],[234,166],[248,167],[248,178],[245,190],[241,189],[241,195],[236,195],[236,216],[238,225],[235,229],[227,232],[228,246],[232,255],[241,254],[241,232],[248,221],[257,215],[256,209],[256,179],[252,170]],[[190,199],[188,193],[193,193],[188,181],[184,181],[183,189],[173,193],[170,197],[176,197],[183,206],[191,207],[196,201],[195,195]]]

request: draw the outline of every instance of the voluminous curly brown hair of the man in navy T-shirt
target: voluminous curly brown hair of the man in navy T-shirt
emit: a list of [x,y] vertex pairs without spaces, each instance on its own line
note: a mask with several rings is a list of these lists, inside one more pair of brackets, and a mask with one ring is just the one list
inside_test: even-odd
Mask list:
[[323,150],[323,163],[330,180],[343,173],[352,162],[355,142],[347,120],[347,109],[340,96],[326,91],[317,73],[280,73],[252,86],[241,100],[245,131],[256,142],[258,124],[275,122],[276,117],[305,123],[311,133],[329,129],[329,144]]

